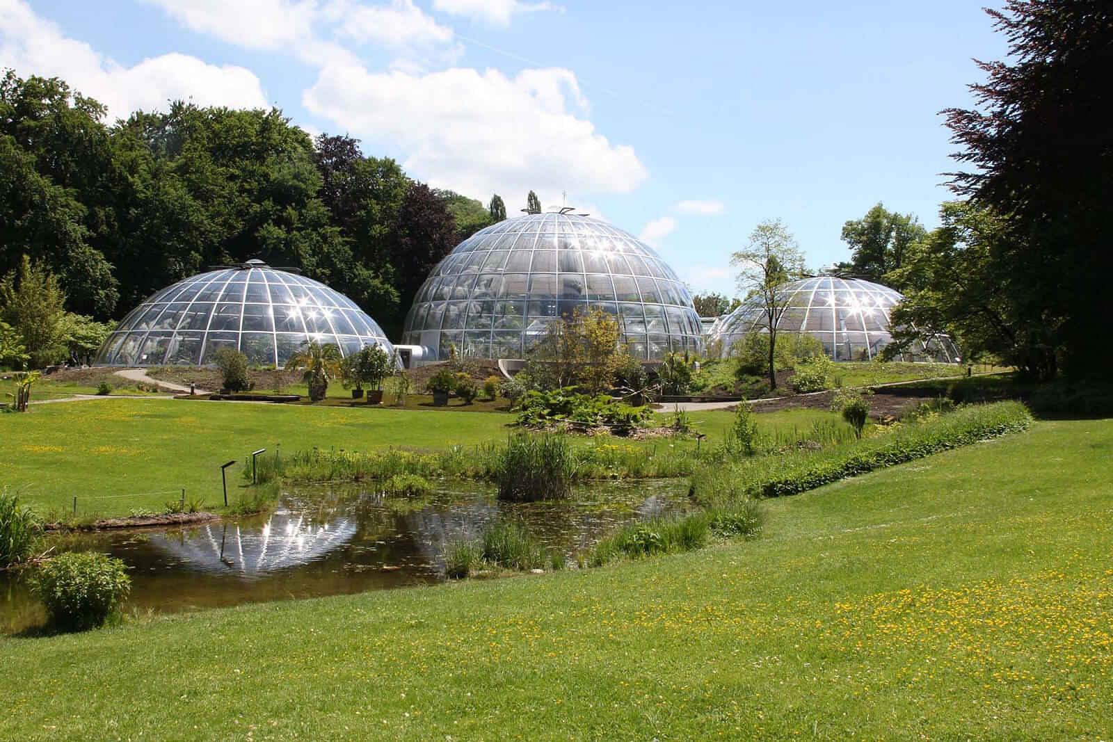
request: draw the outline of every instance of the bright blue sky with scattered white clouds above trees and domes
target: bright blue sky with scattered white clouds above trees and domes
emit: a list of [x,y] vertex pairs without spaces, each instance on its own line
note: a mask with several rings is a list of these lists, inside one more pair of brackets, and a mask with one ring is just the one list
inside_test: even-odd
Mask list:
[[411,176],[508,210],[603,216],[695,291],[780,218],[809,265],[846,259],[877,201],[936,226],[978,2],[0,0],[0,67],[59,76],[112,117],[168,99],[274,105]]

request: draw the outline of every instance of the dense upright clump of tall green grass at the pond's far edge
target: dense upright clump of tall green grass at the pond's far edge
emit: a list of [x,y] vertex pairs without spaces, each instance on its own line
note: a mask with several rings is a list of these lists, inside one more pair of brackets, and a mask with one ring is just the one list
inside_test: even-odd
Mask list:
[[496,473],[499,498],[519,503],[564,499],[572,492],[575,455],[562,435],[511,436]]

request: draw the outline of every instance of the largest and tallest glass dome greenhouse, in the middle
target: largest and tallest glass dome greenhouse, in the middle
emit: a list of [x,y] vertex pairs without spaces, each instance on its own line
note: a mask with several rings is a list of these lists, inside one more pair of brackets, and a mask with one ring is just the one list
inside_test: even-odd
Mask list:
[[702,348],[691,295],[644,243],[600,219],[529,214],[475,233],[430,274],[402,342],[431,359],[524,358],[558,317],[599,307],[636,358]]

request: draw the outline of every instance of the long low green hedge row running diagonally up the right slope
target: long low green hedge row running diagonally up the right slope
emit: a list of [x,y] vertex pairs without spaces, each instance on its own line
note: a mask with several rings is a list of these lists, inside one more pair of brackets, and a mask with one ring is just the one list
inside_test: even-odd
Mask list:
[[689,479],[689,495],[707,506],[743,497],[795,495],[874,469],[1023,431],[1031,422],[1027,407],[1018,402],[971,405],[855,444],[701,467]]

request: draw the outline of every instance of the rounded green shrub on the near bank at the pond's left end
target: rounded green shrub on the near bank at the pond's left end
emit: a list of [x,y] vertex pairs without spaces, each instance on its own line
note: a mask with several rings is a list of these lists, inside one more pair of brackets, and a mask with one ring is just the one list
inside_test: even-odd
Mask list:
[[117,611],[131,590],[124,562],[93,552],[56,556],[39,567],[31,588],[50,622],[68,630],[95,629]]

